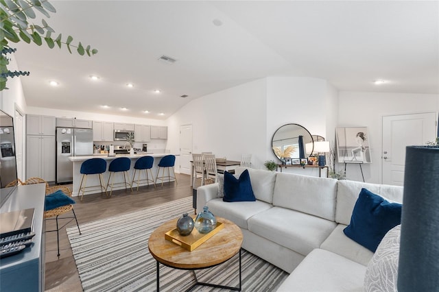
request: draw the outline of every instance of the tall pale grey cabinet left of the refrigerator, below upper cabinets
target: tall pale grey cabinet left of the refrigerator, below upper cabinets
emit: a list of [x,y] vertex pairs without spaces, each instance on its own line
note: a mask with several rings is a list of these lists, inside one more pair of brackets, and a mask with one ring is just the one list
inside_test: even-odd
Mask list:
[[27,135],[26,178],[43,178],[46,182],[56,180],[55,136]]

